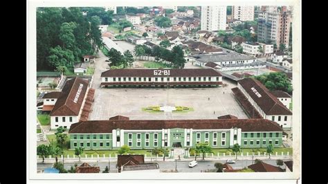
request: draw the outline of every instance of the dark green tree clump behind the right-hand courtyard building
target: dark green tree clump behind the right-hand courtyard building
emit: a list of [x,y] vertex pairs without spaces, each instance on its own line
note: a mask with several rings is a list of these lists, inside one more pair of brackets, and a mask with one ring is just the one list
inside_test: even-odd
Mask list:
[[293,88],[291,82],[285,73],[273,72],[269,74],[258,75],[255,77],[259,82],[264,84],[270,91],[281,90],[291,94]]

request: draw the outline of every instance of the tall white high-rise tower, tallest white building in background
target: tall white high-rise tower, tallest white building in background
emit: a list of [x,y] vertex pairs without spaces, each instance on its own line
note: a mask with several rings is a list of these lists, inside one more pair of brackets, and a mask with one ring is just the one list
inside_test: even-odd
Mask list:
[[201,30],[226,30],[226,6],[202,6]]

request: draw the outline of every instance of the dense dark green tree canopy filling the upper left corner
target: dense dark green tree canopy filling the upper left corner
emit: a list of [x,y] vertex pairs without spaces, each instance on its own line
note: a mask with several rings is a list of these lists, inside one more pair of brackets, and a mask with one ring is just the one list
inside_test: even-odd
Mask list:
[[98,26],[108,17],[97,14],[102,12],[97,8],[86,10],[84,16],[80,8],[37,9],[38,71],[71,68],[83,55],[95,54],[102,44]]

